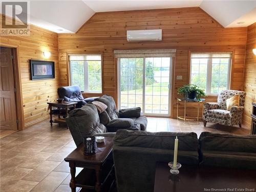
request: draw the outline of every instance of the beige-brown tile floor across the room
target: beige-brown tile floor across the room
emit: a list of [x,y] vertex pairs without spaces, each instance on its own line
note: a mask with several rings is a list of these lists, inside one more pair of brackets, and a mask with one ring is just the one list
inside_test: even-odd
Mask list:
[[[186,123],[169,118],[148,118],[150,132],[203,131],[248,135],[249,128],[208,123]],[[70,191],[69,166],[63,159],[75,149],[68,129],[48,120],[29,129],[12,133],[0,140],[0,191]],[[76,174],[78,174],[77,171]],[[79,189],[77,189],[79,191]]]

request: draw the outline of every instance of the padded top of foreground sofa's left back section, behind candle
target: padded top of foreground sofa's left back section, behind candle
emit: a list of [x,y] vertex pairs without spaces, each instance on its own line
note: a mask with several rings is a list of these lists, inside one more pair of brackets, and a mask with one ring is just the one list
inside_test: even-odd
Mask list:
[[114,145],[174,150],[174,141],[176,136],[178,136],[179,139],[179,150],[198,151],[198,139],[196,133],[151,133],[144,131],[132,132],[127,130],[118,130],[114,138]]

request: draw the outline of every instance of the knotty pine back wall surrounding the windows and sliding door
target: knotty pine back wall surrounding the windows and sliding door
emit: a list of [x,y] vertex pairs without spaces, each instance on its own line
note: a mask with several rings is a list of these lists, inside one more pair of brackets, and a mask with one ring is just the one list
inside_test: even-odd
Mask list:
[[[162,41],[127,42],[126,30],[162,29]],[[176,49],[172,117],[176,117],[177,88],[189,82],[189,53],[232,51],[230,88],[243,89],[246,28],[223,28],[198,7],[95,13],[75,34],[59,34],[60,84],[67,86],[68,53],[103,54],[103,93],[117,99],[114,50]],[[182,75],[182,80],[176,80]],[[91,96],[91,95],[90,95]],[[216,101],[208,97],[207,101]],[[195,108],[188,115],[195,114]],[[182,113],[182,111],[181,111]]]

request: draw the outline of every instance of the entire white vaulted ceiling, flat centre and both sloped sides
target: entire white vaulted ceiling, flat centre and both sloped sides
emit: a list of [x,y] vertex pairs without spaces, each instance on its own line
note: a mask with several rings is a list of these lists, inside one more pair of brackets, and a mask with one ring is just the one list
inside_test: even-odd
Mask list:
[[[57,33],[75,33],[95,12],[105,11],[201,7],[224,27],[246,27],[256,22],[255,0],[30,0],[29,2],[29,23]],[[11,12],[7,15],[11,16]],[[238,22],[244,23],[238,25]]]

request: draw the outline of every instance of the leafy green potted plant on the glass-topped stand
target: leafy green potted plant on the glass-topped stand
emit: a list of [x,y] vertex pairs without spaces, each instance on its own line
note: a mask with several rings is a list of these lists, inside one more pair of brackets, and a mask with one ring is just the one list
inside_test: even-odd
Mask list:
[[205,92],[195,84],[185,84],[178,89],[178,94],[183,94],[184,98],[188,99],[200,99],[206,96]]

